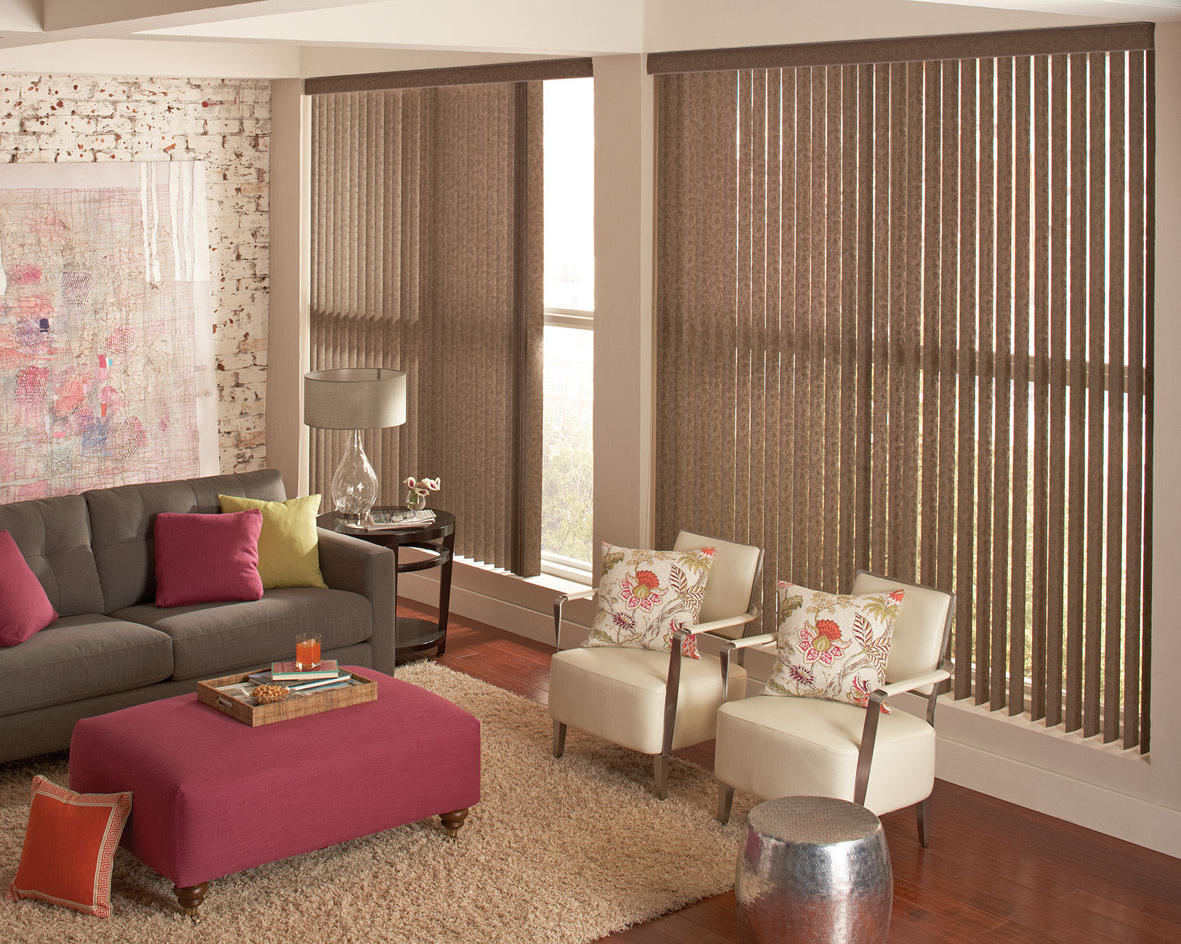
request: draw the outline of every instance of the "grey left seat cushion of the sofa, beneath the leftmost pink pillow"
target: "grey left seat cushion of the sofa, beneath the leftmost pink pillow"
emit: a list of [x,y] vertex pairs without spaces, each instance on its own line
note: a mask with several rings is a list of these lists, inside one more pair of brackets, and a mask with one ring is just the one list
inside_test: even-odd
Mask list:
[[172,674],[172,641],[110,616],[65,616],[0,649],[0,715],[128,691]]

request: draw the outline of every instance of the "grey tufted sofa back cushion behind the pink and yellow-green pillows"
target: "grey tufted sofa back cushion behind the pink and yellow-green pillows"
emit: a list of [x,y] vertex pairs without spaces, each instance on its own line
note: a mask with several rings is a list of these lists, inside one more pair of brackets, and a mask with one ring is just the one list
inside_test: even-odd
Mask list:
[[266,502],[282,502],[287,497],[282,477],[274,468],[86,492],[94,562],[105,599],[102,612],[155,599],[156,516],[162,511],[217,514],[218,494]]

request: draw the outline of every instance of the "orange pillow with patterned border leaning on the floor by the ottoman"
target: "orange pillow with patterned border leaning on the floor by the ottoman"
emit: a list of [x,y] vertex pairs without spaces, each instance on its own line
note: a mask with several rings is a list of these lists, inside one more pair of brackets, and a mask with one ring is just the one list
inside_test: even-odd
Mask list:
[[74,793],[34,776],[25,848],[8,898],[109,917],[111,865],[130,814],[130,793]]

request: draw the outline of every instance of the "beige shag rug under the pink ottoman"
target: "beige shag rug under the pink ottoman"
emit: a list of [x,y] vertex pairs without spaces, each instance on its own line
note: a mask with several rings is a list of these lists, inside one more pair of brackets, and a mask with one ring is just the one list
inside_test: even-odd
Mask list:
[[733,886],[739,828],[713,819],[707,771],[674,759],[661,802],[648,758],[573,729],[550,756],[535,702],[432,662],[398,677],[483,725],[483,801],[458,843],[435,818],[239,872],[209,884],[196,925],[171,883],[120,848],[112,914],[91,918],[2,898],[33,774],[68,782],[65,754],[15,761],[0,765],[0,940],[589,942]]

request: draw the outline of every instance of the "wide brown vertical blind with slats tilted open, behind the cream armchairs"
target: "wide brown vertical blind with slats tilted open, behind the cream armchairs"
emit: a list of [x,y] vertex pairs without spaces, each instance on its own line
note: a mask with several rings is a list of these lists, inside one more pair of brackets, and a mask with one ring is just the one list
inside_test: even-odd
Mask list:
[[957,699],[1141,750],[1151,45],[650,57],[659,539],[764,546],[765,599],[954,590]]

